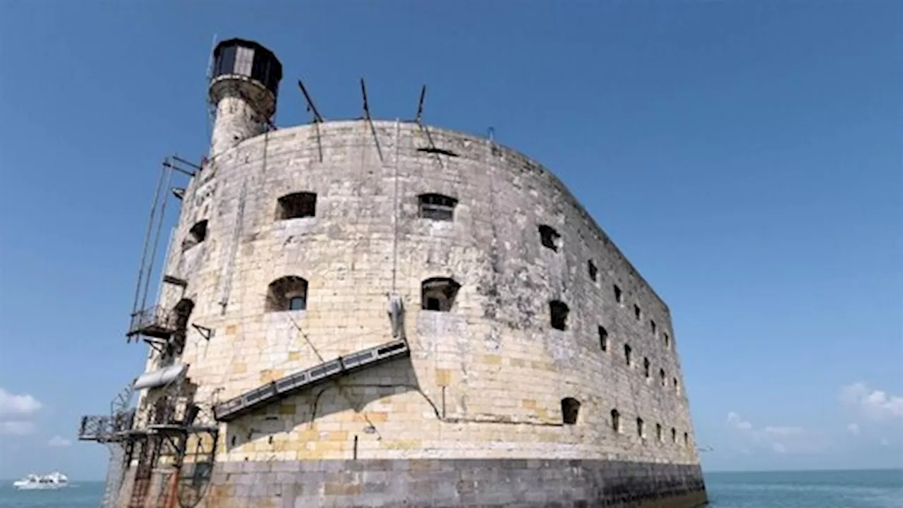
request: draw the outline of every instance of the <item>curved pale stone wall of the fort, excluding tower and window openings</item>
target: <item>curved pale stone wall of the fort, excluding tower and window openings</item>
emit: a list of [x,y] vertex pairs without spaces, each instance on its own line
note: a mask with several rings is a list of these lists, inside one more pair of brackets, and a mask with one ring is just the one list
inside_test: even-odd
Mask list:
[[[418,150],[429,146],[457,156]],[[315,216],[276,220],[277,200],[296,192],[316,193]],[[457,199],[453,221],[420,218],[422,193]],[[206,239],[182,249],[204,220]],[[560,235],[557,249],[544,247],[542,224]],[[394,285],[405,303],[409,359],[221,424],[213,491],[260,506],[281,505],[275,497],[284,495],[392,505],[402,490],[421,493],[411,503],[436,505],[544,505],[558,494],[598,505],[623,489],[647,500],[696,493],[671,496],[684,500],[675,506],[704,498],[666,304],[563,183],[511,149],[391,121],[252,137],[193,179],[166,270],[188,286],[165,287],[161,305],[190,298],[191,323],[214,330],[206,340],[191,329],[182,354],[208,410],[387,342]],[[307,280],[306,309],[266,312],[267,287],[284,276]],[[421,309],[421,284],[434,277],[461,284],[450,312]],[[550,325],[551,300],[569,307],[563,331]],[[573,425],[563,422],[565,398],[580,402]],[[366,503],[330,494],[333,480],[319,474],[285,491],[294,482],[286,475],[319,464],[309,461],[352,468],[354,479],[340,483],[359,485]],[[405,473],[391,473],[397,467]],[[400,486],[408,476],[414,484]],[[261,494],[240,486],[248,482],[283,486]],[[368,486],[378,484],[389,486]]]

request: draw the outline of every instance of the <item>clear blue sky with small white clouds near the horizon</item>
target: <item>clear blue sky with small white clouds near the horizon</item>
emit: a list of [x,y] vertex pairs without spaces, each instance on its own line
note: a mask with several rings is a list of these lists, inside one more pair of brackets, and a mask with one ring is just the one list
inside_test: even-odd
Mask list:
[[214,33],[283,61],[277,125],[299,77],[326,118],[425,83],[428,122],[560,175],[671,306],[707,470],[903,462],[903,4],[179,4],[0,3],[0,477],[102,476],[75,429],[143,368],[148,206],[206,153]]

